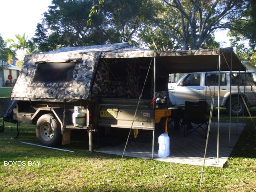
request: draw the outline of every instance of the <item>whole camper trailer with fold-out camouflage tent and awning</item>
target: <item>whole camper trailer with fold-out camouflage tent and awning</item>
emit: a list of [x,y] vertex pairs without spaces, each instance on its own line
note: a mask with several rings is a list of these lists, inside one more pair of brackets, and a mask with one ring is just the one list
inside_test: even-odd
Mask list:
[[173,110],[168,74],[214,70],[221,59],[240,68],[230,49],[161,52],[120,43],[27,55],[4,120],[34,124],[46,146],[69,144],[70,132],[84,129],[92,151],[98,127],[150,130],[154,143],[155,124]]

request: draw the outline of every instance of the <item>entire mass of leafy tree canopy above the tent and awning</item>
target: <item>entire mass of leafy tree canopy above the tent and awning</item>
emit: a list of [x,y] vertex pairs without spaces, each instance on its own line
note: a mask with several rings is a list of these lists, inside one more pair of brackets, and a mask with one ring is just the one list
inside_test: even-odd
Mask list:
[[216,30],[255,48],[254,0],[52,0],[36,28],[40,51],[129,42],[158,50],[217,48]]

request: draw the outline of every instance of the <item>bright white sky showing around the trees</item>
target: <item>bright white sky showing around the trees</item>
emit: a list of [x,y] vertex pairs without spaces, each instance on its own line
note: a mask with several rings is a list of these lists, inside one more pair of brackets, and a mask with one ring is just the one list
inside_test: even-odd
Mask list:
[[[4,40],[14,39],[15,34],[34,37],[36,25],[42,21],[43,13],[48,10],[52,0],[0,0],[0,34]],[[217,32],[216,40],[221,48],[230,46],[226,32]],[[17,52],[22,59],[22,51]]]

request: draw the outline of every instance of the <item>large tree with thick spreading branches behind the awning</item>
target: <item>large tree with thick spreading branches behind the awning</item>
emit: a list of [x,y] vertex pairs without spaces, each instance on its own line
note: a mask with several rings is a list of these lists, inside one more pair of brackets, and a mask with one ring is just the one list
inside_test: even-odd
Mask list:
[[164,0],[154,22],[183,49],[198,49],[218,29],[240,30],[235,23],[248,6],[240,0]]

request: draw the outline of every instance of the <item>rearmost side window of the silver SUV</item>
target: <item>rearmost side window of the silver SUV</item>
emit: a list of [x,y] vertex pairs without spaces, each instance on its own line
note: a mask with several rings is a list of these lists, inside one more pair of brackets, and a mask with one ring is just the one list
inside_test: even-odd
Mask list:
[[232,85],[253,85],[253,77],[252,73],[232,73]]

